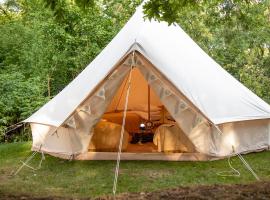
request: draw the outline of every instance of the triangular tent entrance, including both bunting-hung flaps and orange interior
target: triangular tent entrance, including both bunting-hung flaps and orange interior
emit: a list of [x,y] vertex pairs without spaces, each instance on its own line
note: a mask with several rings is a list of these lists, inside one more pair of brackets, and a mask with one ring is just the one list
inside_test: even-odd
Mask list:
[[[128,95],[123,153],[128,153],[131,160],[133,155],[134,159],[138,159],[138,154],[141,159],[146,159],[142,155],[144,153],[165,157],[167,154],[195,155],[197,152],[211,155],[209,152],[216,147],[211,142],[212,130],[208,120],[162,72],[139,52],[134,54],[136,59],[132,60],[134,57],[127,55],[57,129],[58,135],[67,137],[67,142],[63,144],[65,154],[86,153],[89,159],[97,154],[102,154],[104,159],[106,153],[117,154],[127,96],[127,77],[131,64],[135,63]],[[149,120],[149,113],[153,128],[145,136],[141,134],[140,127]],[[136,142],[136,134],[145,137]],[[56,135],[49,139],[54,137]],[[147,138],[150,141],[143,142]]]

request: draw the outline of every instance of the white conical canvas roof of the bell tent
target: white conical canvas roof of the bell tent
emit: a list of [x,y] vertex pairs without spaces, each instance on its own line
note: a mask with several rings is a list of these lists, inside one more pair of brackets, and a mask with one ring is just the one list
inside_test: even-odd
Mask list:
[[270,118],[270,106],[227,73],[178,25],[144,20],[140,6],[107,47],[24,122],[59,127],[133,50],[147,58],[215,124]]

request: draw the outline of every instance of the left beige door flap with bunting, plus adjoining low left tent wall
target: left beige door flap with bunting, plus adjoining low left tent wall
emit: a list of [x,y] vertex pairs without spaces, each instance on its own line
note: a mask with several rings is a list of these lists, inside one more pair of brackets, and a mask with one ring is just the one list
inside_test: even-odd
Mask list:
[[31,123],[33,149],[64,155],[88,150],[93,126],[100,120],[111,99],[130,71],[126,63],[117,67],[58,128]]

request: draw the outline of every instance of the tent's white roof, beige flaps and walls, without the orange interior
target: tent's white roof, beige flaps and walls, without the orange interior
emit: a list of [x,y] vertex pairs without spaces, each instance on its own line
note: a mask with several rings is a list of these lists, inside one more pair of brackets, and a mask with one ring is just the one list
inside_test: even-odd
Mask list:
[[86,151],[91,128],[129,73],[134,54],[136,68],[198,152],[222,157],[234,153],[232,145],[237,153],[269,147],[270,106],[179,26],[144,20],[140,6],[85,70],[24,121],[31,124],[33,149],[62,156]]

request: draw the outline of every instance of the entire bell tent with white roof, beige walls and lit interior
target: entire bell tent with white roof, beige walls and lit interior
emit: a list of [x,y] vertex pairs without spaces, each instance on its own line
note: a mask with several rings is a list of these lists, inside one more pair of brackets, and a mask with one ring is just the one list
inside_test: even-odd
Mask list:
[[[116,159],[125,111],[122,159],[207,160],[270,145],[270,106],[178,25],[144,20],[141,7],[68,86],[24,122],[31,125],[33,150]],[[153,141],[131,144],[131,135],[149,120]]]

